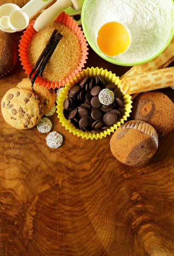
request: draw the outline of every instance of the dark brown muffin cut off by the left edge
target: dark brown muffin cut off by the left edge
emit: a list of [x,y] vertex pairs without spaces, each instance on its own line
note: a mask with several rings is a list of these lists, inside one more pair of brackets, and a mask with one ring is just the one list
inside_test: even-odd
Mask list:
[[0,78],[7,76],[17,60],[17,49],[8,33],[0,31]]

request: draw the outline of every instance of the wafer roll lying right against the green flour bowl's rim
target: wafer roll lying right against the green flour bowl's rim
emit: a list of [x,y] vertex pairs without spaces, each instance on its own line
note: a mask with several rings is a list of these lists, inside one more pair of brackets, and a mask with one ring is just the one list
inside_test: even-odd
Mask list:
[[174,37],[172,38],[168,47],[159,55],[157,58],[154,58],[152,61],[149,61],[145,64],[137,65],[132,67],[128,72],[126,72],[120,79],[123,79],[126,76],[134,76],[138,74],[143,74],[147,71],[153,71],[160,68],[167,67],[174,57]]

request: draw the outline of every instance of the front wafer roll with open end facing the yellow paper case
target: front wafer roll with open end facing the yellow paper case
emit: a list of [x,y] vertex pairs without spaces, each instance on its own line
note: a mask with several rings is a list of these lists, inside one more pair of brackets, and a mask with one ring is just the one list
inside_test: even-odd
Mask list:
[[125,94],[142,93],[174,85],[174,67],[128,76],[120,81],[120,90]]

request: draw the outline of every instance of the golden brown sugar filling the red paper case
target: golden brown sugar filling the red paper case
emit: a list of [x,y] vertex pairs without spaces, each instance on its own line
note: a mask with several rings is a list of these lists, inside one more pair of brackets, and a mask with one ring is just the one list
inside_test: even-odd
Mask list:
[[58,29],[63,38],[46,65],[43,79],[50,82],[59,82],[74,72],[82,56],[79,38],[71,28],[55,21],[48,28],[37,32],[29,43],[28,56],[31,66],[34,67],[54,29]]

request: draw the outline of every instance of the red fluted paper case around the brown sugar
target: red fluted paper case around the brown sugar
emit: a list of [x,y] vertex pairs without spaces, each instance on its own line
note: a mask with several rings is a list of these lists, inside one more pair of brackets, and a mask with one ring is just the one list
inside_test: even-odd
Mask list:
[[[68,14],[65,14],[65,12],[62,12],[59,17],[55,21],[59,21],[63,23],[64,25],[68,26],[71,28],[74,33],[78,36],[81,44],[81,50],[82,50],[82,57],[80,59],[80,63],[76,70],[74,72],[66,77],[66,79],[62,80],[61,82],[49,82],[44,80],[42,77],[38,76],[35,83],[39,85],[43,85],[43,87],[48,87],[48,89],[53,88],[55,89],[60,88],[60,86],[64,86],[65,84],[68,83],[68,81],[71,81],[73,77],[75,77],[80,71],[82,71],[82,68],[84,67],[84,64],[86,63],[86,59],[88,58],[88,44],[86,43],[86,38],[83,35],[83,31],[80,29],[77,23],[75,23],[75,20],[72,19],[72,17],[69,17]],[[26,29],[26,31],[23,33],[22,39],[20,40],[20,49],[19,49],[19,56],[20,56],[20,61],[22,61],[23,69],[25,70],[25,73],[28,74],[31,72],[32,68],[31,65],[29,64],[29,59],[27,57],[27,48],[29,47],[29,42],[32,38],[32,36],[37,33],[35,29],[33,28],[34,25],[33,21],[30,25],[29,28]],[[33,76],[32,76],[33,77]]]

